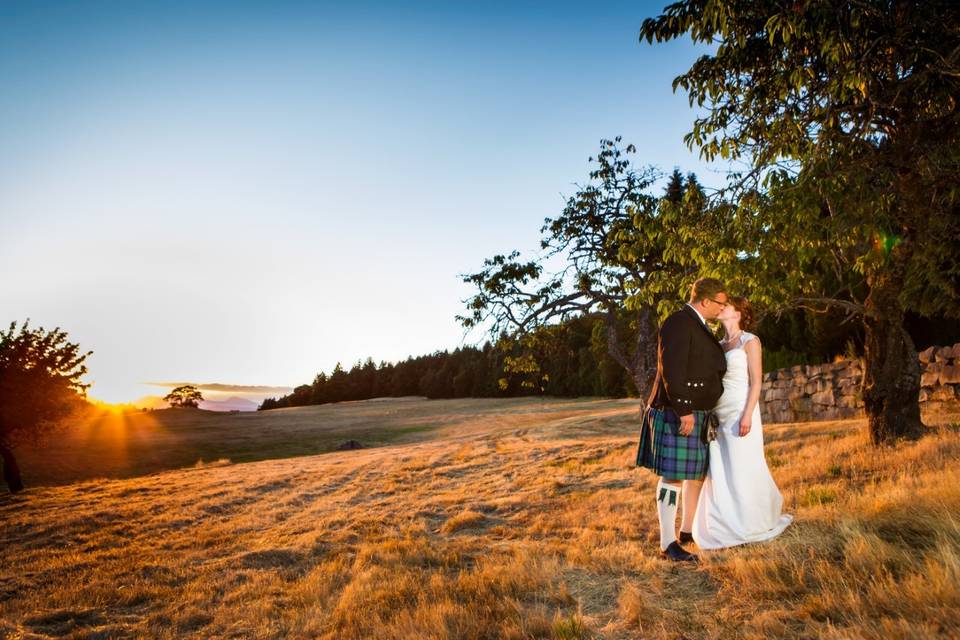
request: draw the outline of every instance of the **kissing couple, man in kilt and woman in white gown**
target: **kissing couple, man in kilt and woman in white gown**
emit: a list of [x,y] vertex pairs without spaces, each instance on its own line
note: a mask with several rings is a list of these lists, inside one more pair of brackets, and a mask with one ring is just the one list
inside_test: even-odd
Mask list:
[[[723,340],[709,320],[723,325]],[[636,464],[660,478],[655,498],[666,559],[696,562],[684,544],[719,549],[769,540],[793,520],[781,513],[783,497],[763,453],[763,367],[752,328],[749,301],[728,297],[715,278],[697,280],[689,302],[660,327]]]

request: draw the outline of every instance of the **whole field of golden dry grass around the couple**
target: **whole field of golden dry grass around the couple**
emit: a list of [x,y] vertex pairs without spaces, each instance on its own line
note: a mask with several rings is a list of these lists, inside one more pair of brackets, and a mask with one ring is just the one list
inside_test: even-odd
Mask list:
[[[960,637],[960,416],[881,450],[862,421],[768,425],[795,524],[690,567],[657,557],[637,409],[194,416],[215,438],[165,418],[153,462],[141,430],[94,475],[188,468],[0,498],[0,638]],[[383,446],[237,464],[351,433]],[[51,481],[78,473],[63,442]]]

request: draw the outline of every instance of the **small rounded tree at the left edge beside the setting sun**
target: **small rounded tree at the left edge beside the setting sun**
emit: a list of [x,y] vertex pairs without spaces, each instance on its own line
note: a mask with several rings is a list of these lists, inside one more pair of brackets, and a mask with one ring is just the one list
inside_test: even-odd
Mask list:
[[38,440],[86,406],[80,382],[92,351],[79,352],[59,327],[31,329],[27,320],[0,331],[0,457],[12,493],[23,489],[14,447]]

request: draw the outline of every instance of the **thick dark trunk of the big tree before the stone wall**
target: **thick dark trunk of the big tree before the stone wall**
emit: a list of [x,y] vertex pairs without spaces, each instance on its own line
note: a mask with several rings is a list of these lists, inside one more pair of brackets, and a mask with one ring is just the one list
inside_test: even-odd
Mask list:
[[924,428],[920,362],[913,340],[903,328],[899,271],[894,266],[872,277],[866,300],[863,404],[874,444],[919,437]]

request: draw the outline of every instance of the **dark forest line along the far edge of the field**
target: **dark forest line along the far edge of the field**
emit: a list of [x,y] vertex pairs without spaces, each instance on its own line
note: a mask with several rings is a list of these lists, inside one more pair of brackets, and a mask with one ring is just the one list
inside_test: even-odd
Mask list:
[[[626,313],[618,314],[618,333],[629,334],[629,319]],[[862,328],[842,320],[838,314],[803,309],[765,317],[757,329],[764,339],[764,369],[861,356]],[[921,348],[931,340],[960,340],[960,327],[945,318],[915,316],[910,325]],[[436,351],[396,363],[375,364],[367,358],[349,370],[337,363],[330,374],[320,372],[285,396],[266,398],[258,409],[403,396],[637,396],[628,371],[610,355],[608,339],[605,317],[580,315],[529,335],[503,335],[481,347]]]

